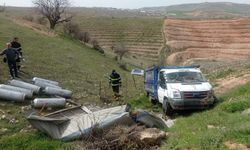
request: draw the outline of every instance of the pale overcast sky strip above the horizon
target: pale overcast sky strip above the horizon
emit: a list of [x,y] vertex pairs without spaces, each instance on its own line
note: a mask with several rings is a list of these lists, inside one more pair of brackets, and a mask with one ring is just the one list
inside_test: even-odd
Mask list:
[[[33,0],[0,0],[0,5],[32,7]],[[76,7],[113,7],[136,9],[152,6],[169,6],[202,2],[233,2],[250,4],[250,0],[69,0]]]

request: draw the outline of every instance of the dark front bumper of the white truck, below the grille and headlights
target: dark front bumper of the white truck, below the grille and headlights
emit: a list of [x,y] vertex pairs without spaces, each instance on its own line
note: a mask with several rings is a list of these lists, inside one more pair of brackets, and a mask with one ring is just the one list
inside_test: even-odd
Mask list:
[[204,109],[214,104],[214,98],[203,99],[170,99],[169,103],[174,110]]

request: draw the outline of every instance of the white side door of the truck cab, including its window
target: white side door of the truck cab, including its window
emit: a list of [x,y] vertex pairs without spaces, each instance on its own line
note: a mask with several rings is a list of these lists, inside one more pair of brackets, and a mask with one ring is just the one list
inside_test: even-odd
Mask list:
[[163,103],[163,98],[167,90],[166,79],[164,78],[164,72],[159,73],[157,88],[158,88],[158,100],[160,103]]

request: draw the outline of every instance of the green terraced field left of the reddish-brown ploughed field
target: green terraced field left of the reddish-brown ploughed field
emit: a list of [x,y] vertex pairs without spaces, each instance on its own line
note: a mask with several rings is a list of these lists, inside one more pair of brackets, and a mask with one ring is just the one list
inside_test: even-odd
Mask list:
[[158,61],[163,46],[162,19],[160,18],[81,18],[78,17],[83,31],[89,32],[105,49],[112,50],[123,44],[129,56],[152,64]]

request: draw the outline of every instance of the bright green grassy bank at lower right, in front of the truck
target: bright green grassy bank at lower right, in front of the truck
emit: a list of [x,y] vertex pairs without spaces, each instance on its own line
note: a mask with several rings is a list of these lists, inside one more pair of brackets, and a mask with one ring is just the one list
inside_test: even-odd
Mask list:
[[[214,108],[178,115],[175,125],[168,129],[170,137],[161,149],[227,149],[226,141],[250,147],[250,117],[241,114],[250,108],[249,97],[250,83],[247,83],[221,95]],[[133,100],[130,104],[159,111],[157,107],[152,109],[147,98]]]

